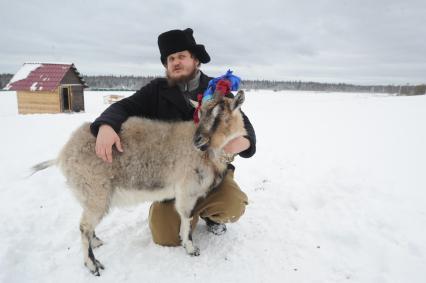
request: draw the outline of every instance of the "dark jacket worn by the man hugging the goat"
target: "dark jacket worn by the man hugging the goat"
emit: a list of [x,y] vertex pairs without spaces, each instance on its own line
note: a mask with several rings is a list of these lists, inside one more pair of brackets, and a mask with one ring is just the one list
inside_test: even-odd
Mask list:
[[[212,78],[201,73],[198,89],[191,99],[197,100],[197,93],[203,93]],[[108,107],[91,125],[92,134],[97,136],[99,127],[110,125],[117,133],[130,116],[141,116],[163,121],[189,121],[193,119],[194,108],[187,102],[177,86],[170,87],[165,78],[152,80],[132,96],[124,98]],[[247,116],[243,113],[244,125],[250,140],[250,148],[240,153],[241,157],[251,157],[256,151],[256,135]]]

